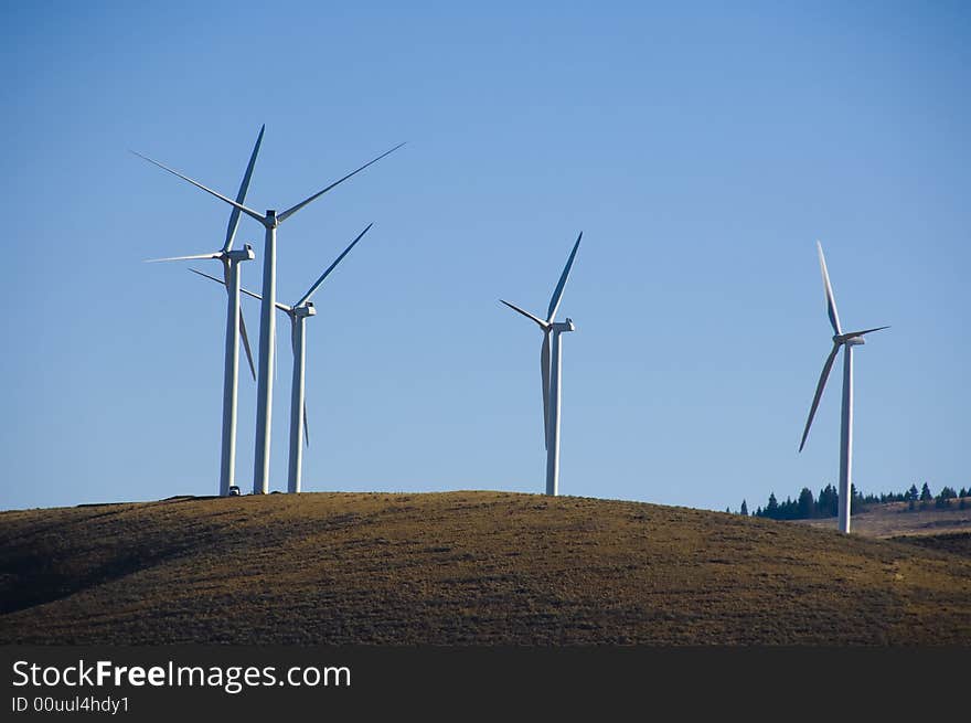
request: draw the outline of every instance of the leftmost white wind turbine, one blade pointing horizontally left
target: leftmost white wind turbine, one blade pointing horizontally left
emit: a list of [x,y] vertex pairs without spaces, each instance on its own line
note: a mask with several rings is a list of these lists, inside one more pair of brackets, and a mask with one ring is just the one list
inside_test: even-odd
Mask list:
[[[259,153],[259,145],[263,142],[263,131],[259,129],[256,145],[249,156],[249,163],[239,184],[236,194],[236,203],[246,200],[246,191],[249,189],[249,180],[253,178],[253,168],[256,166],[256,156]],[[152,258],[154,262],[194,261],[212,258],[223,265],[223,279],[226,286],[226,354],[223,371],[223,447],[220,461],[220,495],[226,497],[230,488],[236,485],[236,400],[239,379],[239,339],[246,350],[246,359],[249,362],[249,371],[256,379],[256,369],[253,366],[253,352],[249,350],[249,337],[246,333],[246,325],[239,311],[239,264],[254,258],[253,247],[244,245],[242,249],[233,251],[233,241],[236,237],[236,228],[239,226],[239,209],[233,209],[230,213],[230,224],[226,226],[226,240],[223,247],[209,254],[194,254],[192,256],[171,256],[169,258]]]

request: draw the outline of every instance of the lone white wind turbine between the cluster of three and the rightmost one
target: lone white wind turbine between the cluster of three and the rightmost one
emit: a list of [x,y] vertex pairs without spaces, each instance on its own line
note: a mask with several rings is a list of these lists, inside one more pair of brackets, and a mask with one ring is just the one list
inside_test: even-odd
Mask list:
[[[499,299],[513,311],[519,311],[527,319],[532,319],[540,329],[543,330],[543,348],[540,352],[540,371],[543,380],[543,427],[545,430],[546,443],[546,493],[555,497],[559,492],[559,391],[561,391],[561,365],[563,361],[563,351],[561,348],[559,336],[567,331],[576,331],[573,320],[567,317],[565,322],[554,321],[556,310],[559,308],[559,299],[563,297],[563,289],[566,286],[566,279],[569,277],[569,269],[573,266],[573,259],[576,257],[577,249],[580,246],[580,238],[584,237],[581,231],[577,236],[569,258],[556,288],[553,289],[553,296],[549,298],[549,307],[546,309],[546,319],[533,316],[529,311],[524,311],[514,304]],[[552,347],[552,350],[551,350]]]

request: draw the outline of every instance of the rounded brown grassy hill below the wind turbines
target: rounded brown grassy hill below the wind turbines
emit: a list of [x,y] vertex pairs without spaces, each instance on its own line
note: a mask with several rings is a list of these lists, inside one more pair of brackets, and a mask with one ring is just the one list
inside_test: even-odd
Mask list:
[[971,557],[586,498],[0,513],[0,642],[971,644]]

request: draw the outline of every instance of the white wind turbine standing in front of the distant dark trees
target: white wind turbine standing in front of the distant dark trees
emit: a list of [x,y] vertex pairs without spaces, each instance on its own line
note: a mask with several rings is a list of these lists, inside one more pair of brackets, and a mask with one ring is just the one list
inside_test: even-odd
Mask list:
[[812,397],[812,406],[809,408],[809,418],[805,421],[805,429],[802,432],[802,442],[799,443],[799,451],[805,446],[805,437],[809,435],[809,427],[812,425],[812,418],[815,416],[815,410],[819,406],[820,397],[823,394],[823,387],[826,385],[826,379],[836,354],[843,349],[843,414],[840,426],[840,518],[839,528],[843,534],[850,534],[850,492],[852,489],[852,467],[853,467],[853,347],[864,343],[863,337],[872,331],[881,329],[889,329],[889,327],[876,327],[875,329],[864,329],[863,331],[850,331],[843,333],[840,326],[840,315],[836,313],[836,299],[833,296],[833,287],[830,285],[830,274],[826,270],[826,259],[823,256],[823,246],[820,242],[815,242],[819,248],[820,269],[823,274],[823,289],[826,294],[826,311],[830,317],[830,325],[833,327],[833,349],[823,364],[823,373],[820,374],[819,384],[815,387],[815,394]]

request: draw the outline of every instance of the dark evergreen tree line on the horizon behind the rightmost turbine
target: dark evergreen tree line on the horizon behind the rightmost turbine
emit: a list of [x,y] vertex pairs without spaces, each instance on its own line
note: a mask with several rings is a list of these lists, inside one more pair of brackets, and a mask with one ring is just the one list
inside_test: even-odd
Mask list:
[[[850,487],[850,513],[858,514],[865,512],[873,504],[885,504],[887,502],[907,502],[907,510],[916,512],[917,510],[927,510],[931,507],[937,509],[947,509],[951,507],[951,500],[957,499],[957,507],[961,510],[971,506],[971,489],[956,490],[952,487],[945,486],[936,496],[931,493],[930,486],[924,482],[924,487],[918,490],[917,485],[911,485],[910,489],[905,492],[881,492],[879,495],[861,495],[856,490],[855,485]],[[730,509],[726,509],[730,512]],[[741,500],[739,514],[748,515],[748,502]],[[837,517],[840,513],[840,493],[832,485],[826,485],[813,496],[812,490],[803,487],[799,497],[794,500],[787,497],[785,502],[780,502],[776,498],[776,493],[769,495],[769,500],[765,507],[756,508],[754,517],[769,518],[771,520],[811,520],[815,518]]]

